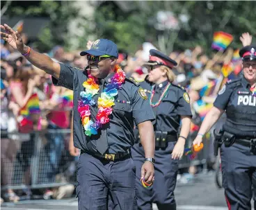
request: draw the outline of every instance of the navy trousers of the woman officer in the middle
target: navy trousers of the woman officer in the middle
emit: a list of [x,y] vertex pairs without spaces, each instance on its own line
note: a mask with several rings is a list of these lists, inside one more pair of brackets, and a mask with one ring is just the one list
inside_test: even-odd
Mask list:
[[156,148],[154,157],[154,184],[146,189],[141,184],[141,166],[145,155],[143,147],[136,143],[131,148],[131,155],[136,165],[136,195],[138,209],[150,210],[152,203],[156,203],[159,210],[175,210],[174,190],[177,181],[178,160],[171,159],[175,142],[168,142],[166,149]]

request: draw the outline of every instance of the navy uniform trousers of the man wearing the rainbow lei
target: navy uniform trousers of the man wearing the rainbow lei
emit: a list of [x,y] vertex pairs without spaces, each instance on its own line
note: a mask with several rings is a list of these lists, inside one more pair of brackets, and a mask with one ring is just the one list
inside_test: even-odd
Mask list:
[[82,153],[77,166],[79,210],[136,210],[135,171],[131,157],[108,161]]

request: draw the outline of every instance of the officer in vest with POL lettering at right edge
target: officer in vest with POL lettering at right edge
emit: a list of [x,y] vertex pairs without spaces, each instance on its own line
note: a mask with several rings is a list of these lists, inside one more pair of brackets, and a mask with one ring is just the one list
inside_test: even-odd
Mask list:
[[227,206],[232,210],[248,210],[253,194],[256,201],[256,46],[243,47],[239,55],[243,60],[243,77],[228,81],[218,92],[214,107],[193,143],[200,143],[202,136],[226,112],[221,166]]

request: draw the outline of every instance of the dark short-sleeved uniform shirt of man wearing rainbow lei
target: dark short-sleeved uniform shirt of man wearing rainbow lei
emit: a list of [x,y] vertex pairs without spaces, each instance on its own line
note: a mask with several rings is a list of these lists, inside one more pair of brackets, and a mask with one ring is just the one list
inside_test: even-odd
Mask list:
[[[110,82],[112,75],[104,80],[99,80],[99,94],[93,99],[97,101],[104,87]],[[54,85],[66,87],[74,91],[74,146],[81,150],[89,150],[98,153],[97,141],[101,138],[107,139],[108,153],[116,154],[125,152],[134,145],[134,122],[136,125],[144,121],[154,121],[154,113],[150,107],[143,89],[140,85],[129,78],[118,89],[118,96],[115,98],[113,112],[109,116],[109,123],[103,125],[97,134],[90,137],[84,134],[81,118],[77,110],[80,92],[84,90],[82,84],[88,79],[87,71],[61,64],[60,78],[52,77]],[[95,121],[97,115],[97,103],[90,107],[90,118]]]

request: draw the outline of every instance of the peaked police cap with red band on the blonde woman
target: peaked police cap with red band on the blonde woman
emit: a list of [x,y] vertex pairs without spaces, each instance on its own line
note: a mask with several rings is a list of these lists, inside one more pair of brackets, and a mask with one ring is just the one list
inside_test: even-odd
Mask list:
[[163,65],[173,69],[173,67],[177,66],[177,62],[175,60],[170,59],[167,55],[164,55],[160,51],[155,49],[150,50],[150,60],[145,63],[145,65],[155,66],[155,65]]

